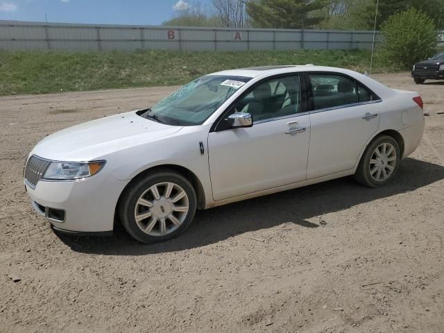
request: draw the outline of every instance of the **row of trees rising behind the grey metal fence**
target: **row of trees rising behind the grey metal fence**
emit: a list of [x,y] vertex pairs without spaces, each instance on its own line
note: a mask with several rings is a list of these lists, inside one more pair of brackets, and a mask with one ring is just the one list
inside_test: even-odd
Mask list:
[[[166,26],[373,30],[377,0],[212,0],[176,10]],[[444,29],[444,0],[379,0],[376,28],[395,14],[415,9]]]

